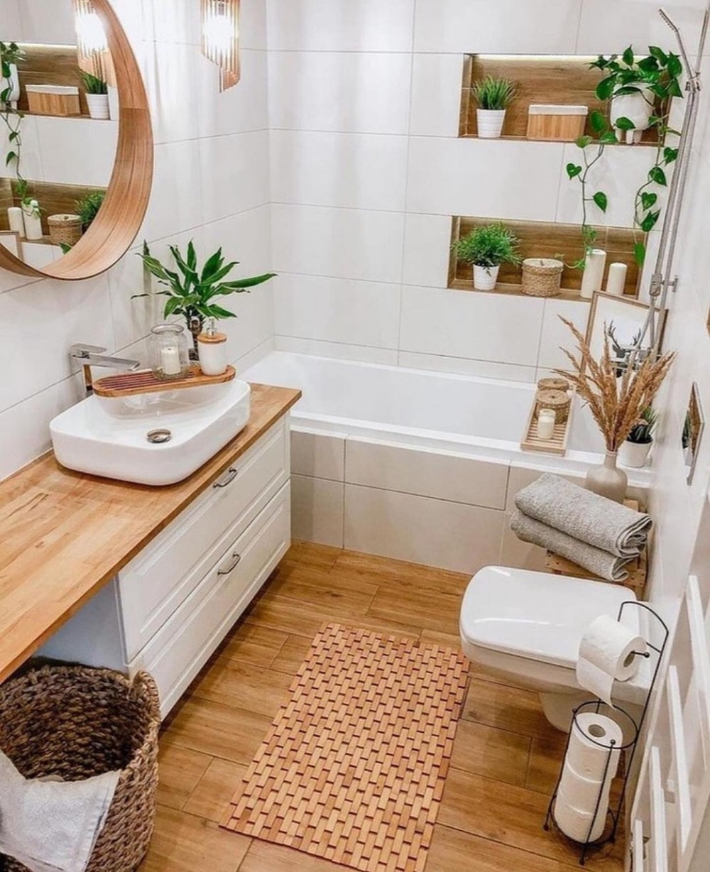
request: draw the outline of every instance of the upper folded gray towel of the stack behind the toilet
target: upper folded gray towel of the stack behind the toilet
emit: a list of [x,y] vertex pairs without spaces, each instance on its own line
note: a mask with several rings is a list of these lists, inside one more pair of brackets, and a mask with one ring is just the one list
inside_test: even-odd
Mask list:
[[545,473],[515,497],[523,514],[617,557],[638,557],[652,528],[648,514]]

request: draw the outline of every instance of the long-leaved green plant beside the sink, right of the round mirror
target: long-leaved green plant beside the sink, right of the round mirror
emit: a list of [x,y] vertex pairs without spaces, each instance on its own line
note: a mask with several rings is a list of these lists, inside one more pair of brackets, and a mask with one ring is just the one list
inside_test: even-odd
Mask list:
[[[225,263],[222,249],[210,255],[202,267],[197,265],[197,253],[192,240],[183,257],[176,245],[170,246],[177,271],[167,269],[150,253],[147,242],[143,243],[140,258],[148,272],[158,279],[158,283],[166,290],[159,290],[161,296],[167,296],[163,317],[169,318],[181,315],[188,324],[188,330],[193,336],[193,348],[190,350],[190,360],[198,360],[197,337],[201,334],[205,318],[236,318],[234,312],[222,308],[217,300],[231,294],[249,293],[256,285],[268,282],[276,273],[265,273],[263,276],[251,276],[226,282],[229,273],[238,265],[237,261]],[[151,296],[150,294],[134,294],[133,298]]]

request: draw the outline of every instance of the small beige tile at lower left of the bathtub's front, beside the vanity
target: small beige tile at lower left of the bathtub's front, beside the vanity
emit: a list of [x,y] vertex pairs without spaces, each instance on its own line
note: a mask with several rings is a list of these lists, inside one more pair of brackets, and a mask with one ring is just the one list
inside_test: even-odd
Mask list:
[[291,476],[291,532],[294,539],[343,547],[341,481]]

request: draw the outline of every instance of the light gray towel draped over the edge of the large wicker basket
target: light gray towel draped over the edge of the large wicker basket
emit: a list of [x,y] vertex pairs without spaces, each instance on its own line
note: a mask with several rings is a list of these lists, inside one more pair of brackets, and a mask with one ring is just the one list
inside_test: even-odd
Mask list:
[[85,781],[25,779],[0,752],[0,853],[32,872],[84,872],[118,772]]

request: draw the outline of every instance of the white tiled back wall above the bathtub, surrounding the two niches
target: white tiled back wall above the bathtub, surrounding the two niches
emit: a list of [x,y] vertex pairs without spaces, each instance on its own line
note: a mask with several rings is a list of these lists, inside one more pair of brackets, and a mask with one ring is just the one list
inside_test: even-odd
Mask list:
[[[564,170],[576,146],[458,138],[463,55],[669,45],[655,8],[268,0],[268,13],[276,346],[524,381],[562,365],[557,316],[584,328],[587,303],[445,290],[451,215],[579,217]],[[631,225],[651,159],[607,151],[597,223]]]

